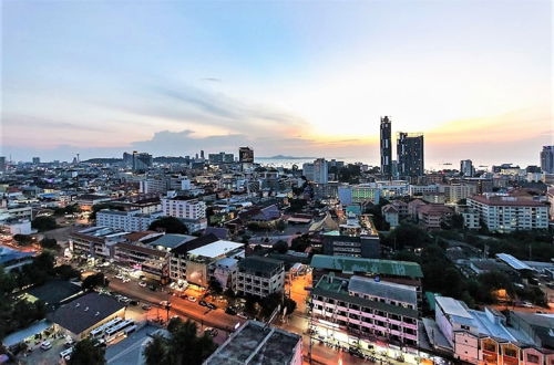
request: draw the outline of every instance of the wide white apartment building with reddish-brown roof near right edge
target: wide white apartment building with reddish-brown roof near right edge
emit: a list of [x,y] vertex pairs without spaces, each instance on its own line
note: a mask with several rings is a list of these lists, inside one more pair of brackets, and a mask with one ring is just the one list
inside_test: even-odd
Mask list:
[[479,212],[480,220],[491,231],[548,228],[548,207],[540,201],[512,196],[482,195],[468,198],[468,206]]

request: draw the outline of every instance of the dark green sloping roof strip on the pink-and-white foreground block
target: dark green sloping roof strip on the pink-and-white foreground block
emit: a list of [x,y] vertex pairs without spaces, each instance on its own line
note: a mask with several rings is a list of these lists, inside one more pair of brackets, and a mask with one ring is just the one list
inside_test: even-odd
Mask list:
[[345,290],[345,285],[341,284],[343,281],[346,280],[336,278],[332,283],[329,283],[327,281],[327,275],[324,275],[321,277],[321,279],[319,279],[319,282],[316,284],[316,286],[311,292],[314,295],[331,298],[347,303],[352,303],[387,313],[418,319],[417,310],[387,304],[382,302],[370,301],[369,299],[350,295],[348,291]]

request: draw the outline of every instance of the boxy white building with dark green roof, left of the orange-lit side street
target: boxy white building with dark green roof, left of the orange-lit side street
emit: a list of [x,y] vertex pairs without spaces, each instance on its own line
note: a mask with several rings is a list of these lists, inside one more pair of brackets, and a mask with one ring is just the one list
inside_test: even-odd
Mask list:
[[283,292],[285,264],[283,261],[263,257],[248,257],[238,262],[235,291],[240,295],[265,298]]

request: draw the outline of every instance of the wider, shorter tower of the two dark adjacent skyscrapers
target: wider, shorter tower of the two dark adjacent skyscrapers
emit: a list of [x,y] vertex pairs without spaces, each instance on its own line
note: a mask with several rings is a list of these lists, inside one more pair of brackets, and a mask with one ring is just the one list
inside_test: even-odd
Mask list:
[[399,132],[398,170],[401,177],[423,176],[423,134]]

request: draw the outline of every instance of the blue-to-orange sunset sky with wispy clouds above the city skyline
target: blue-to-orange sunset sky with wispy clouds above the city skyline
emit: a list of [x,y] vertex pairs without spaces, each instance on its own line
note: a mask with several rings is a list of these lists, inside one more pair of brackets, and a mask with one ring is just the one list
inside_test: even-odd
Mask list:
[[530,1],[2,1],[1,155],[201,148],[538,164],[552,9]]

